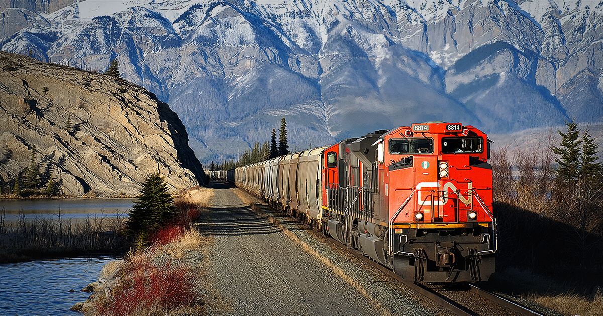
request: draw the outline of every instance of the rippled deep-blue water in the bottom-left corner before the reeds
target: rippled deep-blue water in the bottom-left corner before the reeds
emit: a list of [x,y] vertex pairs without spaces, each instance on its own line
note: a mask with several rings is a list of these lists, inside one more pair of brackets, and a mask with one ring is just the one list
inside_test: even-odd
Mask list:
[[113,259],[72,258],[1,264],[0,315],[81,315],[69,308],[90,296],[80,290],[98,280],[103,265]]

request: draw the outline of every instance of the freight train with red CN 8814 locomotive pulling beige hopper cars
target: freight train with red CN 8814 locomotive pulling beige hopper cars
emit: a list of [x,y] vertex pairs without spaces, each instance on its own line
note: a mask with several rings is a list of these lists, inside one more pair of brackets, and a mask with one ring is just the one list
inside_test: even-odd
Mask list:
[[376,131],[210,177],[227,179],[409,282],[494,272],[487,135],[461,123]]

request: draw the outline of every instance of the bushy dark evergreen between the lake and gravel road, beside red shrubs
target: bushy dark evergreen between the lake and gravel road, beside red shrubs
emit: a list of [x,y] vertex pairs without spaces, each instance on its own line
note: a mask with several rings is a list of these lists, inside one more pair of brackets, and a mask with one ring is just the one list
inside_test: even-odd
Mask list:
[[142,182],[126,226],[130,233],[139,234],[170,222],[175,215],[174,198],[168,193],[163,176],[151,173]]

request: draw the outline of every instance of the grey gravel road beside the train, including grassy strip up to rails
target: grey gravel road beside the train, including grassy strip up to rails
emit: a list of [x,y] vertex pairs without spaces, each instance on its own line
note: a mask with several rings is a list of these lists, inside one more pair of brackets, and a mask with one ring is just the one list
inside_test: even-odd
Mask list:
[[263,201],[238,188],[213,186],[199,225],[214,241],[207,257],[209,314],[448,314]]

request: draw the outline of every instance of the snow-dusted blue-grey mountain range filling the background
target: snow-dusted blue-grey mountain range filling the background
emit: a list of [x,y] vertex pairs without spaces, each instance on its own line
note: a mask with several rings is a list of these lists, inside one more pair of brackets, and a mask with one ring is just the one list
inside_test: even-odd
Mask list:
[[[7,2],[7,1],[5,1]],[[603,122],[603,2],[24,0],[3,51],[104,71],[167,102],[202,162],[443,120],[504,133]]]

